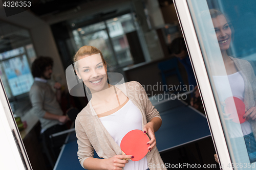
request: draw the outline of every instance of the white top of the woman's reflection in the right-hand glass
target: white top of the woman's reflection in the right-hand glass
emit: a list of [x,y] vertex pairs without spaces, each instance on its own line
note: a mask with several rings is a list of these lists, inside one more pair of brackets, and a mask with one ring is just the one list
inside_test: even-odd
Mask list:
[[[230,87],[229,85],[224,84],[226,76],[212,76],[212,77],[214,78],[214,83],[216,86],[216,90],[217,90],[220,102],[224,102],[225,99],[230,97],[229,94],[227,94],[227,91],[229,91],[229,88],[231,88],[232,96],[237,97],[242,101],[244,101],[244,79],[241,76],[240,71],[227,76]],[[231,128],[232,130],[228,131],[230,138],[242,137],[252,132],[251,125],[247,121],[244,122],[243,124],[236,124],[236,123],[230,122],[230,126],[232,127]]]

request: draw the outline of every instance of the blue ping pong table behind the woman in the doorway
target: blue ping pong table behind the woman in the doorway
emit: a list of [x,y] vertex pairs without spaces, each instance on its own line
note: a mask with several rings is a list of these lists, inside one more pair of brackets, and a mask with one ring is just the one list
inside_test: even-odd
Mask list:
[[[205,115],[185,102],[177,99],[151,101],[162,117],[162,126],[155,133],[160,153],[210,136]],[[73,131],[61,149],[54,170],[83,169],[77,151],[77,138]],[[94,157],[99,158],[95,152]]]

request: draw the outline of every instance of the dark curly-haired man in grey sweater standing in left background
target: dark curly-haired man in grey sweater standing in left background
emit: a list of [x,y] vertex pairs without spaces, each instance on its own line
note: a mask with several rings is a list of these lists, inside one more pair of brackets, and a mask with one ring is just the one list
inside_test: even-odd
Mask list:
[[[63,115],[59,106],[61,85],[57,82],[55,83],[55,94],[52,87],[47,82],[51,79],[52,67],[53,60],[50,57],[38,57],[35,59],[31,68],[34,83],[29,92],[33,113],[39,118],[42,139],[48,148],[51,144],[49,136],[53,133],[66,130],[65,123],[68,121],[68,117]],[[63,136],[61,139],[58,139],[59,144],[53,149],[53,154],[55,155],[54,159],[56,159],[59,154],[59,148],[64,141],[65,137]]]

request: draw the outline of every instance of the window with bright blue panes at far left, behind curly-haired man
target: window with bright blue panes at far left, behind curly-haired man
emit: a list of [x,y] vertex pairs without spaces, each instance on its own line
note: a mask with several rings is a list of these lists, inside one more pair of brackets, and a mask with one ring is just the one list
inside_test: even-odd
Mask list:
[[0,34],[0,76],[7,96],[11,101],[26,97],[34,81],[30,64],[36,58],[29,31],[0,22]]

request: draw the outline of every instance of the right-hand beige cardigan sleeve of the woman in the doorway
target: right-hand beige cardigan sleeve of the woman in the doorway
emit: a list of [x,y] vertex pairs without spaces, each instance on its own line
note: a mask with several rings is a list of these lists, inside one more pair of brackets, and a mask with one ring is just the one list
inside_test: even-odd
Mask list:
[[150,99],[148,99],[148,96],[147,96],[147,93],[146,93],[144,87],[139,82],[136,82],[136,90],[140,91],[139,98],[142,100],[142,105],[145,110],[147,122],[150,122],[150,120],[153,117],[159,117],[162,120],[159,112],[157,111],[155,106],[152,105]]

